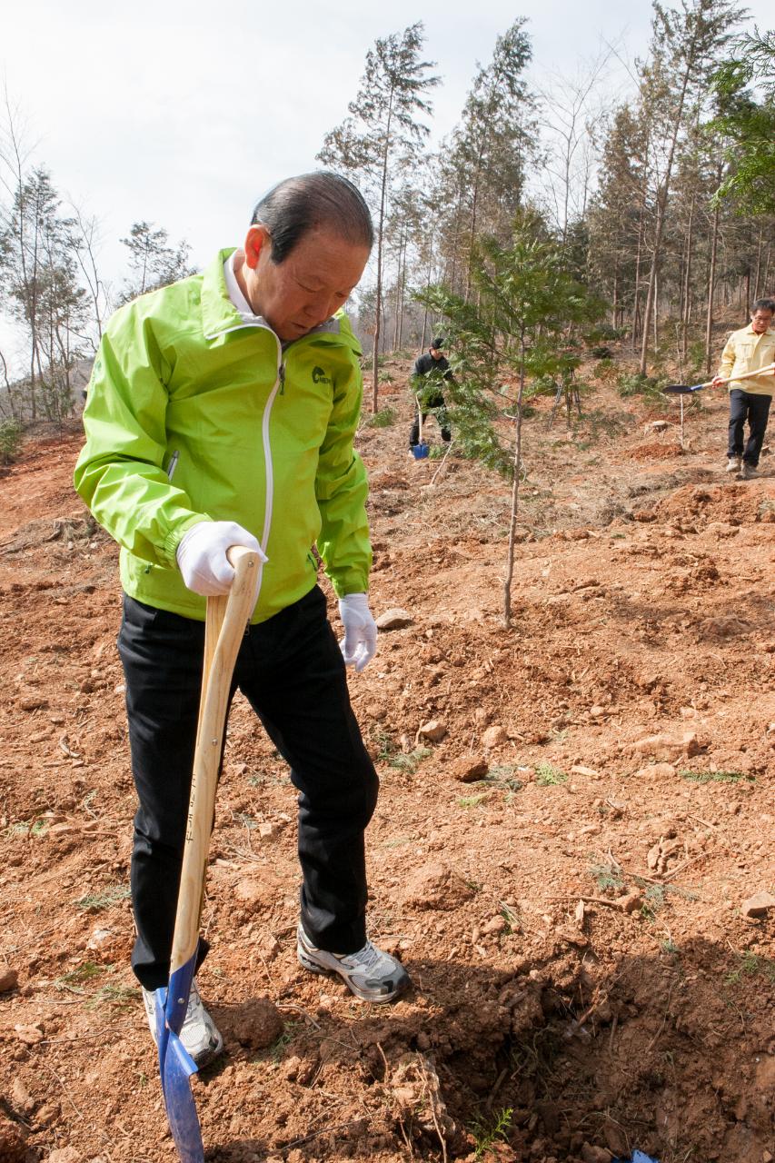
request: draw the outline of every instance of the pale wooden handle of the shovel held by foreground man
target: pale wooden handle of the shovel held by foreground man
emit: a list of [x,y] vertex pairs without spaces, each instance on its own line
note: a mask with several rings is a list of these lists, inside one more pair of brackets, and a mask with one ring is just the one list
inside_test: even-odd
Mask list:
[[258,554],[243,545],[232,545],[227,557],[235,570],[232,588],[225,597],[207,599],[199,725],[175,916],[171,973],[193,956],[199,940],[229,688],[240,643],[253,613],[259,569]]

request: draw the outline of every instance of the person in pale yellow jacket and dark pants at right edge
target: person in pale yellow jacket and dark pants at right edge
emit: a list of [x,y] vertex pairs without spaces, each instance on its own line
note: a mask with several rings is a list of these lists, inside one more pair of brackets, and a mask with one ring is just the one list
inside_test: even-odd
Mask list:
[[[775,328],[773,327],[773,299],[756,299],[751,308],[751,323],[732,331],[724,351],[713,387],[723,379],[730,383],[730,435],[727,444],[727,472],[741,472],[745,480],[758,477],[756,466],[767,430],[769,406],[775,391],[772,371],[752,379],[734,383],[735,376],[775,363]],[[748,421],[748,440],[745,443],[745,423]]]

